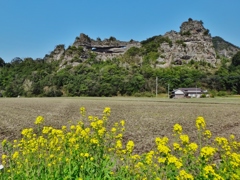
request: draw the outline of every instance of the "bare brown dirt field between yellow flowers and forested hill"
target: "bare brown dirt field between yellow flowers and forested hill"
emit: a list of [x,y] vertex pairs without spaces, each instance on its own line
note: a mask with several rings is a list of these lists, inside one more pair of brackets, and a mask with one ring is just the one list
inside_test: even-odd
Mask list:
[[[240,99],[164,98],[0,98],[0,141],[21,136],[23,128],[34,126],[39,115],[45,125],[61,127],[79,119],[79,108],[88,115],[101,116],[111,107],[110,124],[124,119],[124,140],[134,140],[135,152],[145,152],[154,146],[156,137],[172,137],[172,127],[179,123],[190,140],[196,140],[195,119],[203,116],[213,136],[240,140]],[[1,149],[0,149],[1,154]]]

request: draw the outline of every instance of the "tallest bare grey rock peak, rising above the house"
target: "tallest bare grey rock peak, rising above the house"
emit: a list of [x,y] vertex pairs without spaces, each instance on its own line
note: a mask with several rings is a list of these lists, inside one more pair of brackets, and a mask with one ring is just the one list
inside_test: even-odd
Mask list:
[[166,67],[170,64],[181,65],[190,60],[206,61],[212,65],[217,62],[209,30],[203,27],[201,21],[189,19],[182,23],[180,32],[170,31],[163,37],[169,38],[172,43],[160,45],[159,51],[162,53],[158,61],[162,65],[158,65],[159,67]]

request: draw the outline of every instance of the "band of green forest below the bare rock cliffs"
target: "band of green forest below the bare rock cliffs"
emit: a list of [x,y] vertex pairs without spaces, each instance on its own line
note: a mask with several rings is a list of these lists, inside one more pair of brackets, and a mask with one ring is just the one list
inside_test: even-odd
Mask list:
[[[191,61],[187,65],[155,68],[149,65],[149,52],[141,65],[134,62],[129,50],[124,58],[96,61],[94,56],[73,67],[59,69],[59,61],[15,59],[1,63],[0,92],[3,96],[151,96],[178,87],[202,87],[212,91],[240,93],[240,52],[231,60],[222,59],[217,69],[209,64]],[[131,53],[130,53],[131,52]],[[125,59],[130,62],[126,65]],[[222,93],[222,92],[221,92]]]

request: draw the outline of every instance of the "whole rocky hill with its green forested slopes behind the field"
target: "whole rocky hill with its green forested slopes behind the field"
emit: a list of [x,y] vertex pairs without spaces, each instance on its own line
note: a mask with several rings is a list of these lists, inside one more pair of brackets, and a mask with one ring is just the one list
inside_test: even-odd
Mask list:
[[197,86],[213,95],[239,94],[238,50],[222,38],[212,39],[203,23],[192,19],[179,33],[142,42],[81,34],[72,46],[57,45],[43,59],[5,63],[0,58],[0,96],[153,96],[156,77],[158,93],[167,93],[169,85],[170,90]]

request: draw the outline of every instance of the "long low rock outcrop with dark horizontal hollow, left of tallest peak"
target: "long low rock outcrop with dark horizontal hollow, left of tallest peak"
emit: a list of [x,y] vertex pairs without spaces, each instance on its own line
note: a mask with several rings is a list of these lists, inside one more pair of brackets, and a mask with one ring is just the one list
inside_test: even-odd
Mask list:
[[81,33],[79,37],[76,37],[72,46],[65,49],[64,45],[58,45],[44,59],[47,61],[62,60],[60,66],[69,63],[77,65],[88,59],[91,56],[91,52],[96,54],[98,60],[106,60],[123,55],[133,46],[140,47],[141,44],[134,40],[129,42],[119,41],[114,37],[104,39],[103,41],[100,38],[93,40],[86,34]]

